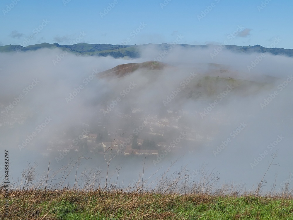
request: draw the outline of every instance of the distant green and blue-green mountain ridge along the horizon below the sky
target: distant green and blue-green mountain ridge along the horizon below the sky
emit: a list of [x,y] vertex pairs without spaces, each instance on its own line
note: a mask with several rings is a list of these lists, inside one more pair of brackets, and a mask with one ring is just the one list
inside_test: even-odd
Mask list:
[[[139,58],[140,51],[147,47],[148,45],[154,45],[159,48],[159,50],[169,50],[170,44],[143,44],[143,45],[112,45],[112,44],[88,44],[88,43],[78,43],[73,45],[60,45],[58,43],[41,43],[35,45],[28,45],[23,47],[21,45],[5,45],[0,47],[0,52],[21,52],[21,51],[31,51],[38,50],[42,48],[59,48],[61,50],[67,50],[71,53],[77,55],[87,55],[87,56],[112,56],[114,58]],[[174,47],[179,48],[194,48],[194,49],[203,49],[203,48],[218,48],[219,45],[189,45],[189,44],[176,44]],[[288,57],[293,57],[293,49],[284,49],[284,48],[265,48],[260,45],[255,46],[237,46],[237,45],[224,45],[225,50],[230,50],[238,53],[270,53],[272,55],[285,55]]]

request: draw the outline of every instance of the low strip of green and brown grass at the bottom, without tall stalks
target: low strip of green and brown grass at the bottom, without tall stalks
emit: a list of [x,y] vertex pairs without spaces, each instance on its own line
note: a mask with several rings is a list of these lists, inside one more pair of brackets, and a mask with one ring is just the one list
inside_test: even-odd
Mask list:
[[1,219],[293,219],[293,201],[254,196],[16,190]]

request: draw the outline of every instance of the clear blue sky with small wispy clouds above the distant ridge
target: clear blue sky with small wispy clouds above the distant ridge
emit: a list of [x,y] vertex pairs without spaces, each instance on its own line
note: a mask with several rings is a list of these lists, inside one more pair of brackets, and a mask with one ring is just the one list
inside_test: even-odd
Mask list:
[[277,38],[274,47],[289,49],[292,9],[289,0],[2,0],[0,44],[172,43],[181,35],[180,43],[200,45],[270,47]]

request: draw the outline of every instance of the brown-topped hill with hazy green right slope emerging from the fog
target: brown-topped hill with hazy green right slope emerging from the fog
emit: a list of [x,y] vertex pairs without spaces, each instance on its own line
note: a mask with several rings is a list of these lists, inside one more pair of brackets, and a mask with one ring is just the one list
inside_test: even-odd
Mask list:
[[[277,78],[272,77],[269,79],[264,77],[257,82],[244,80],[239,77],[237,71],[220,64],[199,64],[194,68],[178,68],[163,62],[154,61],[117,65],[109,70],[100,72],[98,77],[114,80],[119,85],[119,88],[115,89],[119,90],[121,89],[120,87],[127,86],[127,84],[122,84],[122,81],[120,81],[121,77],[129,76],[129,79],[131,79],[133,74],[142,74],[144,79],[138,83],[137,89],[139,90],[156,83],[163,74],[170,75],[172,78],[175,75],[189,75],[191,72],[196,76],[188,85],[181,88],[182,92],[178,94],[178,99],[205,100],[207,98],[217,98],[217,95],[224,91],[227,85],[235,88],[233,92],[238,93],[239,96],[249,96],[262,90],[271,89],[273,82],[277,80]],[[135,79],[139,80],[137,77]],[[126,82],[128,83],[129,81],[126,80]]]

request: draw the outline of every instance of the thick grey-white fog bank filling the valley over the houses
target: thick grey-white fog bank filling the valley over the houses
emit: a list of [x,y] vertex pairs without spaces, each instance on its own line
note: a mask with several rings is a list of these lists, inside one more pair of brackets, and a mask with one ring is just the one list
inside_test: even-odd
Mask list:
[[[155,145],[170,145],[147,155],[145,164],[144,155],[124,155],[126,147],[121,147],[122,153],[110,161],[107,177],[108,183],[117,181],[119,187],[135,184],[143,170],[144,180],[151,177],[151,182],[177,160],[170,173],[186,165],[185,174],[193,176],[188,178],[191,183],[198,181],[196,171],[204,165],[207,173],[218,173],[219,185],[243,183],[251,190],[277,152],[264,177],[264,189],[273,183],[280,189],[284,181],[292,188],[292,58],[222,50],[212,59],[211,53],[214,48],[175,47],[163,55],[149,47],[135,60],[67,53],[59,61],[61,50],[0,53],[1,175],[4,178],[4,150],[9,151],[14,183],[30,164],[37,164],[36,176],[46,178],[49,161],[50,177],[82,155],[64,184],[70,179],[74,185],[75,175],[98,168],[104,186],[109,153],[104,158],[101,151],[93,152],[95,140],[83,135],[107,130],[107,141],[116,138],[122,146],[123,140],[135,134]],[[99,78],[100,72],[119,64],[154,59],[170,67],[137,70],[117,79]],[[66,148],[70,141],[74,148],[62,151],[66,154],[62,157],[54,147]],[[75,150],[80,143],[87,145],[87,152]],[[57,176],[58,182],[62,175]]]

